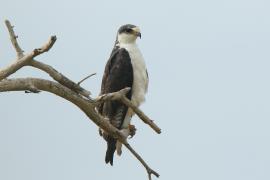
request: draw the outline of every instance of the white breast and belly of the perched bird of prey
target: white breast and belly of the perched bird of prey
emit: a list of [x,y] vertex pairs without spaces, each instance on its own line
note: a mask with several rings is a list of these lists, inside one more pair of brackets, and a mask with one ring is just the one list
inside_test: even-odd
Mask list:
[[131,101],[138,107],[144,102],[145,93],[148,88],[148,77],[143,56],[135,43],[120,44],[120,48],[125,48],[129,52],[133,67],[133,85]]

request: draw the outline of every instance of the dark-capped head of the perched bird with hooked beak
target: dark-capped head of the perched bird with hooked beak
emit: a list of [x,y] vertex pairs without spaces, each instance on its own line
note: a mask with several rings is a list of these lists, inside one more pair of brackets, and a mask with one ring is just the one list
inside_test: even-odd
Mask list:
[[119,43],[134,43],[137,37],[141,38],[140,29],[132,24],[121,26],[117,33],[117,41]]

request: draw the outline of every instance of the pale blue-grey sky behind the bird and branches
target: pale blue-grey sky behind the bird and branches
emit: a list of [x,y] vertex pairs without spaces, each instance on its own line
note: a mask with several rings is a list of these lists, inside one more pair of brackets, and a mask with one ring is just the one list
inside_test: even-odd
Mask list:
[[[99,93],[120,25],[142,31],[150,75],[141,107],[162,128],[137,117],[130,140],[160,179],[270,179],[270,1],[0,2],[0,67],[15,59],[4,20],[29,52],[58,40],[37,59]],[[13,77],[46,74],[24,68]],[[114,166],[106,143],[74,105],[46,92],[0,93],[1,180],[147,179],[124,149]],[[157,179],[154,178],[153,179]]]

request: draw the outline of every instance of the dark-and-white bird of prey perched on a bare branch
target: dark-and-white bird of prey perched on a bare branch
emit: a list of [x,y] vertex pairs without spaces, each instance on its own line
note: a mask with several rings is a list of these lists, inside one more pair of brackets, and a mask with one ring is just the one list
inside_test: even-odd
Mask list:
[[[138,107],[145,100],[148,73],[143,56],[136,44],[137,37],[141,38],[141,32],[137,26],[126,24],[119,28],[115,45],[105,67],[100,94],[130,87],[131,90],[126,97]],[[131,117],[134,114],[132,109],[119,101],[110,101],[101,104],[98,110],[126,137],[134,134],[131,132],[134,131],[134,126],[130,125]],[[113,165],[115,150],[118,155],[121,155],[121,143],[106,132],[103,132],[102,135],[107,141],[105,162]]]

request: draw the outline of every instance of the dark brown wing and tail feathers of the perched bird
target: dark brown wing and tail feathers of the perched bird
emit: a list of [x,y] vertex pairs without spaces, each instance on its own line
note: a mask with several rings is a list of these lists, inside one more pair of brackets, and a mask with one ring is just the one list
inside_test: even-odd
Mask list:
[[[132,88],[133,83],[133,69],[129,53],[123,49],[114,49],[109,61],[106,64],[102,85],[101,94],[119,91],[123,88]],[[131,91],[127,94],[127,98],[131,99]],[[119,101],[109,101],[101,104],[99,112],[108,117],[111,124],[120,129],[128,108]],[[105,161],[113,164],[113,154],[115,151],[116,140],[108,136],[107,152]]]

